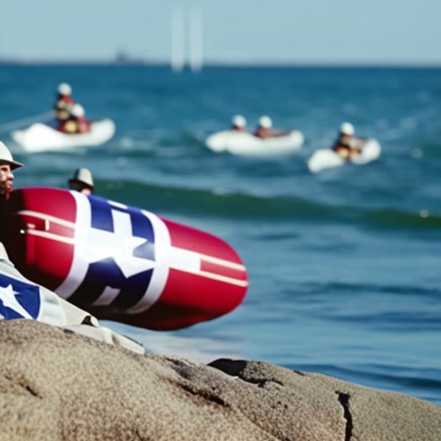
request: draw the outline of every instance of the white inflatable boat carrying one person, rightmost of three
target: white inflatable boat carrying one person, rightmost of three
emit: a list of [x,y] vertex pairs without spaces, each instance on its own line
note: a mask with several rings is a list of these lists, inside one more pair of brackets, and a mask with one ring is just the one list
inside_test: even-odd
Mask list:
[[320,149],[314,152],[307,164],[309,171],[317,173],[326,168],[339,167],[346,163],[367,164],[378,159],[381,153],[380,143],[374,138],[365,139],[359,155],[351,155],[347,161],[332,149]]

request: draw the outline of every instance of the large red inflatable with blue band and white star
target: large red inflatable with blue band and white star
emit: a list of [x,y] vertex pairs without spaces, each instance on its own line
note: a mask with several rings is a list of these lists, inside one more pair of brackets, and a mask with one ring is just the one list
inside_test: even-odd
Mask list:
[[100,319],[178,329],[232,311],[248,286],[222,239],[98,196],[23,188],[1,222],[25,277]]

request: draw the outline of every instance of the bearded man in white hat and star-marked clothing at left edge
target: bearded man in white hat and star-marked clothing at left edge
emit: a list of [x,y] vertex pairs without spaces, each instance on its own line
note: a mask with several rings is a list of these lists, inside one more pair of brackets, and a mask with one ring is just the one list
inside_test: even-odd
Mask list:
[[[20,162],[14,161],[7,146],[0,141],[1,209],[6,207],[14,190],[12,171],[22,166]],[[9,260],[8,253],[0,242],[0,319],[17,318],[38,320],[137,353],[145,352],[142,345],[100,326],[98,320],[86,311],[23,277]]]

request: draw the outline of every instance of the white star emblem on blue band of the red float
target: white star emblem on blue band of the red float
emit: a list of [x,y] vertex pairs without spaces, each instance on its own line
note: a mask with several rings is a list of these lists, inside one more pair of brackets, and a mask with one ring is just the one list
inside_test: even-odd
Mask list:
[[84,250],[84,259],[88,263],[112,258],[126,278],[155,267],[155,261],[138,258],[133,250],[148,241],[133,236],[130,215],[119,210],[112,210],[114,232],[92,228],[81,237],[78,249]]

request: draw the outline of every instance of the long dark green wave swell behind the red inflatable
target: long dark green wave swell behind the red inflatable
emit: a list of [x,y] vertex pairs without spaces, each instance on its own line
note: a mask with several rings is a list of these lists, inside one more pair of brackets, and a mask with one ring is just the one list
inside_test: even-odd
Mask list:
[[[326,205],[301,197],[260,197],[170,186],[145,185],[134,181],[105,181],[101,195],[128,205],[162,212],[182,212],[231,219],[272,222],[358,224],[385,230],[439,230],[441,215],[405,211],[394,207]],[[142,205],[142,206],[140,206]]]

